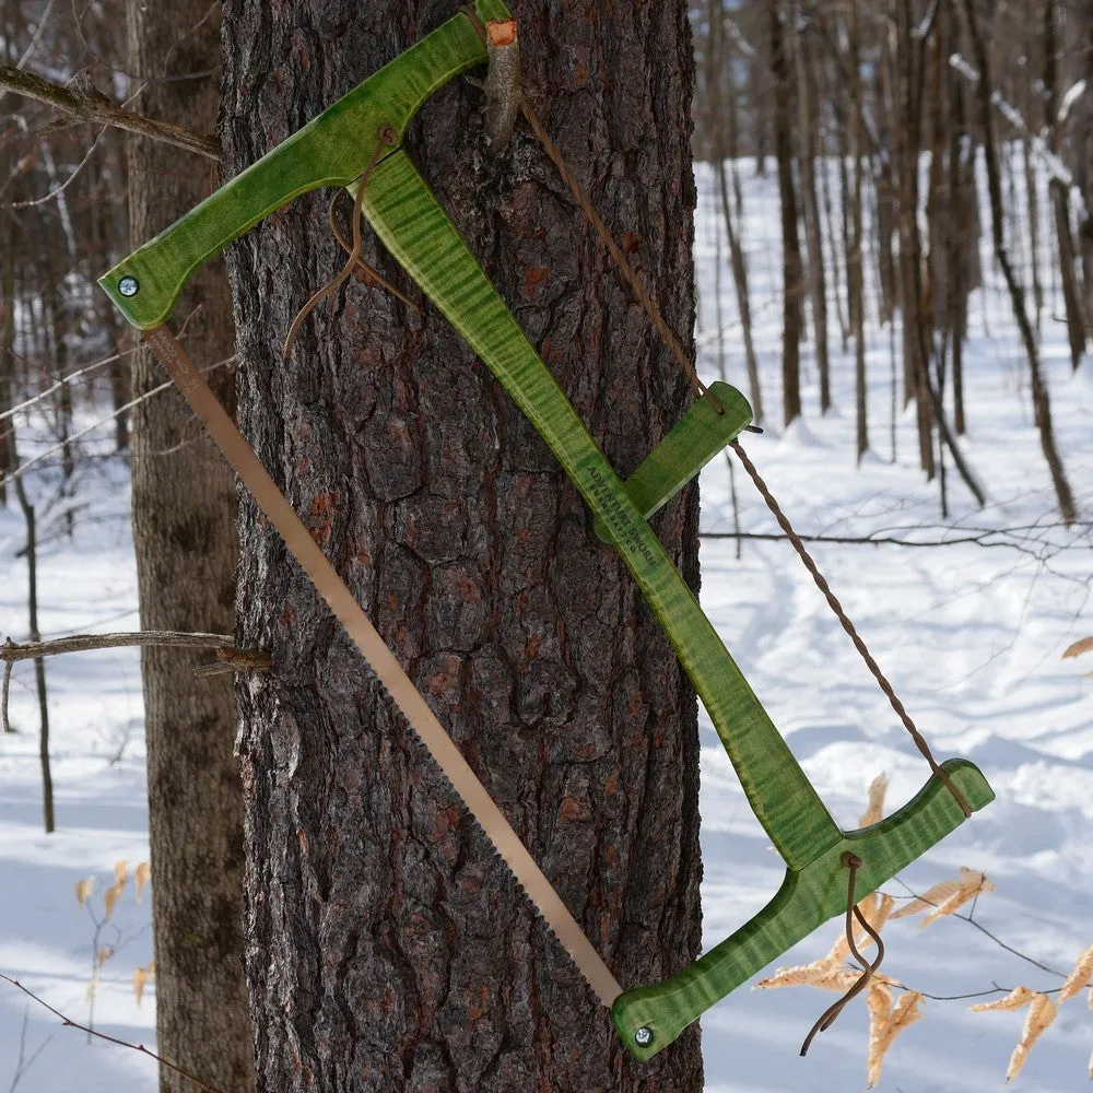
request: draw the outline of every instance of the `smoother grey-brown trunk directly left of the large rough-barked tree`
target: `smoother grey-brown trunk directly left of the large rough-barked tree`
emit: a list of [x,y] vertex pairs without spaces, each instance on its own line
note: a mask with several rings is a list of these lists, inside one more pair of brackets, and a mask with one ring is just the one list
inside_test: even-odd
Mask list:
[[[216,21],[203,0],[131,0],[129,69],[190,74],[220,60]],[[185,33],[184,33],[185,32]],[[210,130],[215,80],[153,81],[136,104],[152,117]],[[164,144],[129,142],[130,231],[151,238],[216,186],[207,161]],[[200,310],[191,314],[192,308]],[[222,271],[191,282],[177,312],[186,342],[212,363],[231,355],[231,296]],[[134,354],[140,395],[163,383],[146,350]],[[210,380],[231,398],[226,371]],[[231,633],[237,497],[233,475],[181,399],[158,396],[132,418],[133,538],[141,624],[148,630]],[[252,1048],[243,974],[243,819],[232,754],[228,677],[193,679],[200,653],[145,648],[141,663],[148,740],[156,1037],[160,1054],[225,1091],[251,1089]],[[171,1070],[161,1093],[190,1093]]]

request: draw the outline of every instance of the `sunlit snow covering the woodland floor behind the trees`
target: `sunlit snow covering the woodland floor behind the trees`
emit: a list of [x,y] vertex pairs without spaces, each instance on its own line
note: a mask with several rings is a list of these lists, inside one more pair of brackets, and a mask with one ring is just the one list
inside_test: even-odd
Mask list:
[[[749,252],[756,349],[767,406],[780,392],[780,256],[777,189],[743,165],[743,236]],[[702,314],[700,366],[716,376],[714,232],[708,168],[697,167],[696,261]],[[1018,195],[1020,198],[1020,195]],[[1041,208],[1046,209],[1042,201]],[[1042,238],[1050,236],[1045,231]],[[889,331],[870,315],[872,454],[854,460],[853,346],[842,349],[833,320],[836,412],[819,416],[810,348],[804,364],[806,416],[783,434],[748,438],[798,530],[838,537],[885,537],[944,545],[816,544],[814,554],[897,692],[943,756],[963,755],[985,772],[997,801],[902,875],[903,897],[983,870],[997,886],[975,919],[1006,944],[1049,968],[1070,971],[1093,943],[1093,658],[1060,660],[1093,634],[1093,375],[1070,375],[1060,305],[1049,295],[1043,352],[1049,371],[1059,447],[1082,508],[1083,528],[1059,527],[1047,469],[1032,426],[1026,366],[1000,279],[984,243],[987,286],[976,293],[967,345],[968,434],[962,446],[989,502],[978,510],[950,474],[951,516],[940,516],[936,484],[916,466],[914,421],[896,421],[892,461]],[[724,254],[724,245],[722,245]],[[1045,266],[1046,268],[1046,266]],[[1050,282],[1048,281],[1050,285]],[[743,383],[731,278],[721,275],[729,378]],[[898,332],[896,332],[898,336]],[[768,424],[773,425],[773,421]],[[108,437],[104,431],[103,450]],[[24,454],[30,454],[24,442]],[[75,536],[43,549],[42,630],[61,636],[137,628],[137,588],[127,524],[125,469],[82,465]],[[737,472],[740,521],[769,532],[762,500]],[[702,483],[707,532],[732,529],[726,462]],[[54,521],[54,530],[57,530]],[[991,532],[984,534],[983,532]],[[49,536],[48,527],[44,534]],[[17,512],[0,510],[0,632],[23,639],[26,573]],[[836,819],[853,826],[871,779],[889,775],[893,808],[922,785],[927,767],[888,707],[838,622],[785,542],[731,540],[702,546],[702,599],[775,722],[786,734]],[[94,925],[74,884],[98,877],[91,901],[113,882],[115,862],[130,872],[148,857],[141,691],[136,650],[70,655],[48,662],[56,834],[40,824],[37,713],[33,669],[16,668],[12,717],[17,736],[0,739],[0,971],[23,979],[77,1020],[89,1015]],[[730,933],[777,890],[781,862],[749,811],[712,728],[703,727],[703,888],[707,945]],[[96,1027],[151,1045],[154,990],[133,997],[134,968],[151,957],[149,900],[138,905],[130,880],[98,945],[117,952],[98,971]],[[830,924],[785,957],[824,954]],[[1061,980],[1006,951],[973,925],[945,918],[920,930],[917,919],[884,931],[884,971],[935,996],[1049,989]],[[20,1090],[85,1093],[155,1090],[155,1067],[136,1053],[62,1029],[0,984],[0,1089],[24,1073]],[[992,996],[995,997],[995,996]],[[743,987],[703,1020],[706,1093],[828,1093],[865,1086],[868,1022],[858,1003],[819,1037],[807,1059],[800,1042],[834,996],[809,987]],[[977,999],[971,999],[975,1001]],[[879,1085],[891,1093],[1000,1089],[1024,1011],[975,1014],[969,1000],[927,1000],[922,1019],[896,1041]],[[25,1014],[25,1025],[24,1025]],[[1016,1086],[1038,1093],[1086,1088],[1093,1012],[1084,996],[1066,1003],[1034,1047]],[[22,1063],[21,1063],[22,1060]],[[498,1091],[508,1093],[508,1091]]]

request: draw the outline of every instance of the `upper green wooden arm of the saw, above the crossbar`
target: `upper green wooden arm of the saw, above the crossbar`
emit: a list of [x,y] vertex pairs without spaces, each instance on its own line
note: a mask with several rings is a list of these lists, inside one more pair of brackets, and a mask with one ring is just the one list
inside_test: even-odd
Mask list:
[[[508,17],[501,0],[478,0],[479,17]],[[236,175],[98,283],[136,327],[158,326],[193,271],[292,198],[359,178],[391,126],[399,140],[418,108],[438,87],[486,61],[466,15],[455,15]],[[136,295],[119,285],[132,278]]]

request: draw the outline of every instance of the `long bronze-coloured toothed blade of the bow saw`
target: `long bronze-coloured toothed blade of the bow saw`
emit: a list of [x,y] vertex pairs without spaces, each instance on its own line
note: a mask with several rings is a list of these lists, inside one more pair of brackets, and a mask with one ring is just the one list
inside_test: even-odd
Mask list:
[[261,460],[243,438],[197,365],[166,326],[144,331],[160,363],[183,392],[209,435],[243,480],[255,503],[280,532],[285,545],[314,583],[353,644],[384,684],[410,727],[428,750],[467,810],[513,871],[525,894],[569,954],[600,1001],[610,1007],[622,994],[610,968],[569,914],[512,824],[471,769],[451,737],[379,636],[349,587],[312,538]]

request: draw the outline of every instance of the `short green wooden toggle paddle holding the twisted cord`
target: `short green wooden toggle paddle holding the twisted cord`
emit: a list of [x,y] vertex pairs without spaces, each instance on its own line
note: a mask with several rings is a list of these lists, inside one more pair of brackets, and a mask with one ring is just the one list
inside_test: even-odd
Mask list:
[[[668,435],[642,460],[624,483],[635,508],[648,519],[679,493],[729,442],[751,424],[748,400],[734,388],[720,381],[709,388],[722,413],[704,395],[672,426]],[[596,533],[603,542],[611,537],[602,520],[595,521]]]

